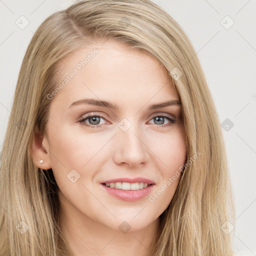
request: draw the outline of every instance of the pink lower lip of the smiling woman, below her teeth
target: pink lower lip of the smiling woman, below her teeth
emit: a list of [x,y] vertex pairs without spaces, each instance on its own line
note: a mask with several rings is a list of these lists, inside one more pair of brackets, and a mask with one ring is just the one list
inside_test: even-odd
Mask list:
[[111,195],[118,199],[124,201],[137,201],[148,195],[152,191],[154,184],[148,185],[147,187],[138,190],[122,190],[117,188],[110,188],[103,184],[100,185],[103,186],[108,193],[110,193]]

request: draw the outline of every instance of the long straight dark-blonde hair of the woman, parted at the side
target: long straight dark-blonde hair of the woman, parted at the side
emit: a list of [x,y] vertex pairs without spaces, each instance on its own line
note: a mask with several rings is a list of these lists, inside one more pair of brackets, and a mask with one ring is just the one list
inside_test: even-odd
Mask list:
[[[51,14],[34,33],[19,71],[1,152],[0,255],[71,255],[60,228],[59,188],[52,169],[37,168],[29,147],[36,125],[40,134],[45,132],[51,102],[46,95],[61,78],[63,58],[108,38],[162,63],[181,101],[186,159],[201,153],[184,168],[159,216],[152,255],[232,255],[231,233],[221,229],[226,220],[234,223],[234,209],[215,106],[185,32],[149,0],[78,1]],[[173,70],[181,74],[178,79]]]

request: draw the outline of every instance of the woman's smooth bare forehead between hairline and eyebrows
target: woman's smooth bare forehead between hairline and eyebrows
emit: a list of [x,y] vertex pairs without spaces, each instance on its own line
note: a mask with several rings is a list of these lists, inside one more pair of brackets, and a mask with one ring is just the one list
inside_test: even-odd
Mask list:
[[68,101],[86,96],[119,101],[119,105],[125,100],[179,98],[157,59],[114,40],[86,45],[65,57],[63,63],[57,83],[65,80],[60,92]]

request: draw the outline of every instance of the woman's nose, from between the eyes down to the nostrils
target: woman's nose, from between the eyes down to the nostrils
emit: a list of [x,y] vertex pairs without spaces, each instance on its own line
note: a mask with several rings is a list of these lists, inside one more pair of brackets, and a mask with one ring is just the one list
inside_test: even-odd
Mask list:
[[146,138],[135,125],[126,131],[118,128],[113,143],[115,147],[113,160],[116,164],[137,167],[145,164],[149,159]]

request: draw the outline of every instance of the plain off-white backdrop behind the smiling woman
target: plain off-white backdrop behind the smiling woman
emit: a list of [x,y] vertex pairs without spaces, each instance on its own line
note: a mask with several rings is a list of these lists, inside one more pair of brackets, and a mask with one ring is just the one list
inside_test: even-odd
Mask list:
[[[28,43],[49,14],[74,2],[0,0],[0,151]],[[256,1],[153,2],[184,29],[200,60],[225,139],[236,211],[233,250],[256,255]]]

